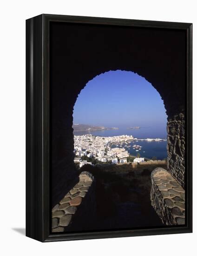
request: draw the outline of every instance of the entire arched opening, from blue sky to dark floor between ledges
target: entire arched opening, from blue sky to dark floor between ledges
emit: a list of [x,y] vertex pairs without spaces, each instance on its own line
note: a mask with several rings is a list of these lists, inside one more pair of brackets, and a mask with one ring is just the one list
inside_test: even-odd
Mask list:
[[165,111],[158,91],[131,71],[99,74],[81,90],[73,109],[74,162],[96,180],[91,228],[162,225],[150,191],[153,169],[167,168]]

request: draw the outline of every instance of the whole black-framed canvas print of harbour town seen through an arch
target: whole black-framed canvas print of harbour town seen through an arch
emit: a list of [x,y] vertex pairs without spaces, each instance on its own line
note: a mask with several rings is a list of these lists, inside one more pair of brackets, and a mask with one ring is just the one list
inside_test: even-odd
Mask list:
[[26,236],[192,232],[192,25],[26,20]]

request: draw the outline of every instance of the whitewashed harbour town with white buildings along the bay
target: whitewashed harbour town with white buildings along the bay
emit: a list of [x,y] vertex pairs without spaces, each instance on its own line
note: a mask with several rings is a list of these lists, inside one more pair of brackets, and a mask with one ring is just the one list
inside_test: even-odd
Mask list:
[[[143,150],[142,146],[134,144],[131,141],[164,141],[163,139],[137,139],[132,135],[119,135],[112,137],[100,137],[91,134],[74,135],[74,162],[79,164],[79,168],[85,164],[95,163],[127,163],[130,156],[128,149],[133,148],[135,151]],[[143,151],[145,152],[145,151]],[[135,157],[133,162],[144,162],[144,157]]]

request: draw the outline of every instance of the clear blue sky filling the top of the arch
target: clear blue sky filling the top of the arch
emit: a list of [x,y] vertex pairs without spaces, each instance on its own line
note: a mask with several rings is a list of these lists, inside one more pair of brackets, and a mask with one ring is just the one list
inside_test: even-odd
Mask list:
[[164,102],[143,77],[128,71],[96,76],[81,90],[73,123],[105,127],[166,126]]

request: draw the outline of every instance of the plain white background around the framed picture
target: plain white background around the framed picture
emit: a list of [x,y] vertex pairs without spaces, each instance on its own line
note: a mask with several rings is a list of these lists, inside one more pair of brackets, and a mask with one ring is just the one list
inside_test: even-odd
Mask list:
[[[191,255],[194,233],[40,243],[25,228],[25,20],[41,13],[193,23],[194,113],[197,100],[197,7],[195,0],[7,0],[0,4],[0,251],[1,255]],[[196,150],[194,116],[194,160]],[[197,216],[196,164],[193,168]],[[16,229],[18,229],[18,232]],[[192,252],[193,250],[193,252]]]

